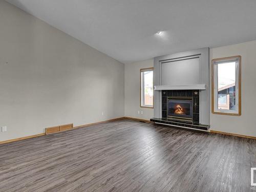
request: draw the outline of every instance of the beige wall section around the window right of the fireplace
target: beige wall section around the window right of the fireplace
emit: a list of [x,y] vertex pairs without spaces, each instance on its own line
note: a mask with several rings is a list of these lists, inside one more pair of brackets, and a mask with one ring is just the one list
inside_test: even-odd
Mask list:
[[[211,59],[242,56],[242,115],[210,114],[211,130],[256,137],[256,41],[210,49]],[[211,68],[210,68],[211,69]]]

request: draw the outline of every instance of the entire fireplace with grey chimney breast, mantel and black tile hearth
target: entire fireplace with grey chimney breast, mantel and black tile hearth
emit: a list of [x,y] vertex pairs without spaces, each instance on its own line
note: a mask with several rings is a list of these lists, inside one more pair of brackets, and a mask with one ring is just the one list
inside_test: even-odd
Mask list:
[[154,58],[152,122],[208,130],[209,48]]

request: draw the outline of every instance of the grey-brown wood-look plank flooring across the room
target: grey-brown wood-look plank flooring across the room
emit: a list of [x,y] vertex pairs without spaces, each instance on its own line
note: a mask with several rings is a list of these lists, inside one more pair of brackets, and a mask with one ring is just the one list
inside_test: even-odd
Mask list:
[[256,140],[117,120],[0,145],[0,191],[250,191]]

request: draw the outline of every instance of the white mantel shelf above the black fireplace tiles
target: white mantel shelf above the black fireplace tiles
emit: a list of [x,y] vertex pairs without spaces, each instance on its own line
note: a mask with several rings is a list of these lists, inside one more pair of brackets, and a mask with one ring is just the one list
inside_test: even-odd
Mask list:
[[167,86],[154,86],[155,91],[161,90],[206,90],[206,84],[184,84],[184,85],[167,85]]

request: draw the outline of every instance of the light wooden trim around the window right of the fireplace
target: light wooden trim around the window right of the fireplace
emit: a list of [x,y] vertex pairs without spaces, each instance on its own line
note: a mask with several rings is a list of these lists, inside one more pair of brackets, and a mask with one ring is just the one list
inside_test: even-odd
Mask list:
[[[214,70],[214,62],[220,61],[220,60],[228,60],[228,59],[234,59],[238,58],[238,66],[239,66],[239,72],[238,72],[238,113],[222,113],[222,112],[215,112],[215,93],[214,93],[214,85],[215,85],[215,70]],[[242,57],[240,55],[232,56],[232,57],[223,57],[223,58],[216,58],[211,60],[211,113],[213,114],[219,114],[219,115],[233,115],[233,116],[241,116],[241,63],[242,63]]]

